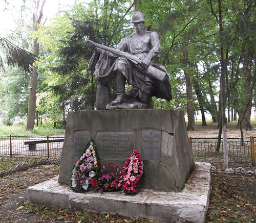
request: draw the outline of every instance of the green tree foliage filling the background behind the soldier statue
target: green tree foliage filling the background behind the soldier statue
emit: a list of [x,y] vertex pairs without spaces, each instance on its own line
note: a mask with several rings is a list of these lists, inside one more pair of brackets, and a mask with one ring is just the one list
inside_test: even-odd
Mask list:
[[[95,108],[97,83],[92,73],[87,72],[92,51],[86,47],[85,40],[116,47],[124,36],[133,32],[130,24],[134,11],[130,9],[132,3],[110,0],[81,4],[77,1],[70,10],[59,12],[49,25],[41,25],[38,32],[27,35],[30,39],[38,39],[41,45],[37,61],[39,118],[61,122],[69,111]],[[186,112],[184,72],[187,72],[193,83],[195,110],[207,110],[217,117],[222,44],[227,63],[225,90],[229,104],[243,111],[248,97],[244,94],[245,77],[241,69],[245,58],[250,61],[251,76],[255,75],[256,5],[253,0],[221,1],[221,32],[218,1],[141,0],[136,7],[143,11],[151,31],[159,34],[162,52],[155,62],[166,67],[172,85],[173,100],[153,98],[155,108]],[[14,38],[13,41],[28,49],[26,38]],[[15,117],[24,118],[27,112],[27,92],[17,90],[17,83],[26,84],[28,89],[28,75],[26,80],[23,76],[26,75],[14,68],[0,77],[0,110],[3,121],[9,125]],[[16,90],[8,96],[6,89],[11,86]],[[113,94],[114,91],[115,88]]]

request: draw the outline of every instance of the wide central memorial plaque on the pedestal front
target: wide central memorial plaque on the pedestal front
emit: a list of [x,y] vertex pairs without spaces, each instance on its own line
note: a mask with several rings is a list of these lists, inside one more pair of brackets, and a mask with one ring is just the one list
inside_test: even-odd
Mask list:
[[100,159],[126,160],[134,150],[134,132],[98,132],[97,151]]

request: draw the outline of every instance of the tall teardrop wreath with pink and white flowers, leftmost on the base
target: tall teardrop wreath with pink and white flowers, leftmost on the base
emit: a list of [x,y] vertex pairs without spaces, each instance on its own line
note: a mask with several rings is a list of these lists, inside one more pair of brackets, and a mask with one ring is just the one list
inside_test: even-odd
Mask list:
[[91,187],[90,180],[98,174],[99,166],[96,144],[91,139],[84,147],[82,156],[74,165],[70,187],[75,192],[88,191]]

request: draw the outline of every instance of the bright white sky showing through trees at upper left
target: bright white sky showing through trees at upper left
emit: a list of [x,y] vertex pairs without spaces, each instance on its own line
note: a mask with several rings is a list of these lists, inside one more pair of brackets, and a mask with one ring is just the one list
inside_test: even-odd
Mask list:
[[[5,3],[5,0],[0,0],[0,36],[7,37],[12,33],[12,30],[15,30],[17,25],[15,24],[15,18],[20,17],[21,15],[21,6],[23,5],[23,0],[7,0],[9,5]],[[29,0],[26,0],[26,5],[29,7]],[[43,14],[44,20],[47,17],[47,22],[50,21],[50,18],[54,17],[58,9],[65,10],[74,4],[75,0],[46,0],[44,5]],[[90,2],[79,1],[79,2]],[[5,10],[8,8],[8,10]],[[32,14],[31,14],[32,20]],[[44,21],[43,20],[43,21]]]

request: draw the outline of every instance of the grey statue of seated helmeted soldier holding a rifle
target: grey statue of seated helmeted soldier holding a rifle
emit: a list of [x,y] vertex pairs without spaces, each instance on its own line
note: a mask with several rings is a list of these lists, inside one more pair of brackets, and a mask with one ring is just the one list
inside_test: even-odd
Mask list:
[[[117,97],[108,105],[109,107],[115,108],[115,106],[118,106],[118,108],[122,108],[123,103],[136,102],[138,105],[139,102],[142,106],[134,108],[153,108],[152,96],[165,100],[172,99],[166,69],[164,66],[152,62],[152,59],[161,52],[159,37],[156,32],[143,29],[145,19],[142,12],[134,12],[131,23],[133,23],[135,32],[121,40],[117,51],[111,50],[110,47],[104,48],[96,43],[94,45],[93,43],[87,43],[95,50],[89,63],[89,69],[92,70],[94,66],[96,80],[106,87],[116,77]],[[123,57],[122,54],[118,54],[118,50],[129,53],[131,57],[127,54]],[[134,56],[138,60],[137,58],[134,60]],[[113,58],[115,62],[111,64]],[[149,72],[149,66],[154,68],[153,72]],[[160,78],[158,73],[161,73]],[[125,91],[126,81],[133,86],[127,91]],[[97,92],[97,94],[100,94],[100,92]],[[100,97],[97,96],[97,98]]]

